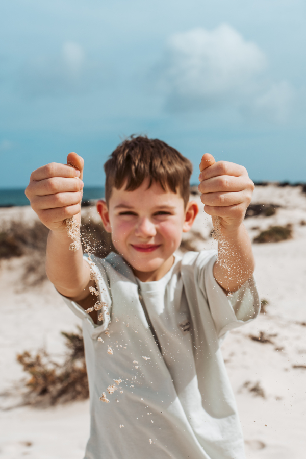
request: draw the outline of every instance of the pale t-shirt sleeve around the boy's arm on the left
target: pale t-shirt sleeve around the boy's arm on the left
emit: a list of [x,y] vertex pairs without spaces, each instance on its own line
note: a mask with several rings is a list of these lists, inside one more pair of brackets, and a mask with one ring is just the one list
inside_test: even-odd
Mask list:
[[[86,255],[84,255],[83,258],[88,262]],[[71,311],[83,321],[83,326],[86,327],[92,339],[95,340],[96,337],[100,335],[100,333],[103,333],[108,328],[111,319],[112,300],[110,295],[108,276],[104,268],[104,260],[101,260],[100,258],[94,257],[92,255],[91,259],[93,262],[91,268],[96,274],[96,286],[99,291],[99,296],[96,298],[97,301],[100,301],[104,305],[101,309],[101,312],[103,313],[103,322],[101,322],[101,324],[95,324],[82,306],[80,306],[75,301],[65,297],[64,295],[60,295],[69,309],[71,309]]]

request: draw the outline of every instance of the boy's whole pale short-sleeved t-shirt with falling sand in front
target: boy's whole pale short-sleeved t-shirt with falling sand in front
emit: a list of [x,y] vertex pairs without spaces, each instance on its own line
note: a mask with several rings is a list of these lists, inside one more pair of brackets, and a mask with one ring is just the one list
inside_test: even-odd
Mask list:
[[[92,259],[109,306],[103,324],[63,297],[83,319],[91,410],[85,459],[243,459],[220,339],[259,313],[253,279],[226,296],[213,276],[215,251],[175,257],[156,282],[140,282],[114,253]],[[99,400],[103,392],[109,403]]]

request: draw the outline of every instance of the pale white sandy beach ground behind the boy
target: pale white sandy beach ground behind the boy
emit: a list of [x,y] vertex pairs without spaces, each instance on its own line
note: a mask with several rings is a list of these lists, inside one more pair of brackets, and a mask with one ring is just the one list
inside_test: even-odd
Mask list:
[[[199,195],[191,198],[202,209]],[[253,244],[260,297],[268,303],[256,321],[228,334],[223,355],[247,459],[301,459],[306,449],[306,193],[301,186],[257,186],[252,204],[275,207],[270,216],[245,219],[252,239],[271,226],[287,225],[292,238]],[[83,212],[96,218],[94,208]],[[28,206],[0,209],[2,230],[12,219],[22,225],[36,216]],[[211,230],[210,217],[200,210],[182,250],[216,247]],[[23,269],[22,256],[0,262],[0,457],[82,459],[89,434],[88,400],[43,409],[14,407],[24,386],[20,381],[28,378],[16,355],[45,347],[60,359],[65,350],[60,332],[79,324],[48,281],[24,285]]]

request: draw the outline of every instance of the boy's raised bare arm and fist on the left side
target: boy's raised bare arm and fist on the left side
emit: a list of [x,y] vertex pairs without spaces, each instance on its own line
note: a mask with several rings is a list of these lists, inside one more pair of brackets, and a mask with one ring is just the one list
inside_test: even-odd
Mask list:
[[[83,260],[82,248],[70,251],[65,219],[74,216],[81,222],[84,160],[69,153],[67,164],[50,163],[31,174],[25,195],[41,222],[49,228],[46,273],[62,295],[90,307],[89,264]],[[82,301],[83,300],[83,301]],[[84,303],[84,304],[83,304]],[[89,305],[90,303],[90,305]]]

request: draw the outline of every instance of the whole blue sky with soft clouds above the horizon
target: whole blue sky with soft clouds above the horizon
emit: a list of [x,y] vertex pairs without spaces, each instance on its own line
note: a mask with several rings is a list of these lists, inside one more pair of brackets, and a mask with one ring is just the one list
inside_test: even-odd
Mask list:
[[132,133],[194,164],[306,181],[302,0],[23,0],[0,14],[0,187],[85,159],[85,185]]

